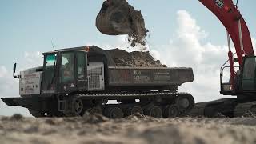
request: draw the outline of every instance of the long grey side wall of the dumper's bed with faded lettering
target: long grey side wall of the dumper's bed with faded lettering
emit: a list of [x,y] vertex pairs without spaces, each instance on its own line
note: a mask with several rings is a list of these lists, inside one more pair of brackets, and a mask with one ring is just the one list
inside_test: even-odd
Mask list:
[[116,67],[108,68],[110,86],[180,86],[193,82],[192,68]]

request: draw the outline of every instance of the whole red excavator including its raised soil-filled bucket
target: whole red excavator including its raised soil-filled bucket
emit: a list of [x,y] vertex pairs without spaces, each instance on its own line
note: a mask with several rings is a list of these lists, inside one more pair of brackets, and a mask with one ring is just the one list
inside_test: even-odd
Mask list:
[[[228,60],[220,69],[220,94],[231,95],[234,98],[198,103],[190,114],[210,118],[218,115],[239,117],[254,114],[256,112],[256,57],[250,31],[238,9],[238,0],[235,3],[233,0],[199,0],[199,2],[206,6],[226,28],[229,50]],[[137,42],[141,42],[147,32],[141,12],[134,10],[126,0],[103,2],[102,9],[96,18],[96,26],[103,34],[128,34],[134,36]],[[234,43],[235,53],[231,51],[230,38]],[[235,66],[235,63],[238,66]],[[226,69],[230,69],[229,82],[223,82]]]

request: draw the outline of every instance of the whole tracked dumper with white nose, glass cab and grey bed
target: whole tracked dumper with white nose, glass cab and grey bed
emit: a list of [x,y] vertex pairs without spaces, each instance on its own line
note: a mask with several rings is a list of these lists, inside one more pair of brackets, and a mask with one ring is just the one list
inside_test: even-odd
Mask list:
[[177,91],[182,83],[193,82],[191,68],[116,66],[110,53],[97,46],[43,55],[42,67],[17,76],[21,97],[3,102],[26,107],[34,117],[89,112],[110,118],[136,113],[168,118],[187,114],[194,106],[192,95]]

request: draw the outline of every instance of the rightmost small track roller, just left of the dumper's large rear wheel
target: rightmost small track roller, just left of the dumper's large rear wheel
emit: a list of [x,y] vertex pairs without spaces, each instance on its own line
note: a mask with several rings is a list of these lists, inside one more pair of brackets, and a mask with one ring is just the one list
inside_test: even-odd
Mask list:
[[179,114],[178,106],[167,105],[162,109],[163,118],[175,118]]

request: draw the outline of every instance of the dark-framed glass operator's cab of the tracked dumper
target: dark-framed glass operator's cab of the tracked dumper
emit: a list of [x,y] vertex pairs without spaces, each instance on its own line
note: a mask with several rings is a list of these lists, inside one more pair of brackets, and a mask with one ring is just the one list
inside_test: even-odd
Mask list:
[[88,90],[86,50],[44,53],[42,94]]

